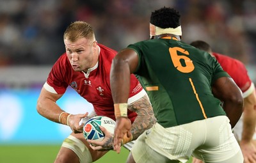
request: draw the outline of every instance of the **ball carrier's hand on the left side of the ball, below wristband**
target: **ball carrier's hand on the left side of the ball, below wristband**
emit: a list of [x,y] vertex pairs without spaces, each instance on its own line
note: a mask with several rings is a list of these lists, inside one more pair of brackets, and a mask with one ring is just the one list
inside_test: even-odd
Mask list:
[[88,112],[86,112],[85,114],[71,114],[68,117],[68,126],[75,134],[83,132],[84,123],[81,123],[80,121],[87,116]]

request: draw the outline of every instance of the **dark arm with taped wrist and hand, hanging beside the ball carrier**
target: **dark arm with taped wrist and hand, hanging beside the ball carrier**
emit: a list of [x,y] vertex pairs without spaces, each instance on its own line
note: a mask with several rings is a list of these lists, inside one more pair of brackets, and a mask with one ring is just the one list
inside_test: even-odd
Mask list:
[[127,100],[130,89],[130,74],[138,66],[138,55],[134,50],[124,49],[115,56],[111,65],[110,86],[115,106],[116,127],[113,146],[120,152],[122,138],[131,137],[131,121],[127,118]]

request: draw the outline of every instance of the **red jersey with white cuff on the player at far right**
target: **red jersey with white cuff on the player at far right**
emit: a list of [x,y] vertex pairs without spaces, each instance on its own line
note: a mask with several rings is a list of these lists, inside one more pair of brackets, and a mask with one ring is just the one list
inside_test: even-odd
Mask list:
[[230,58],[223,54],[218,54],[216,52],[212,52],[212,54],[220,63],[223,70],[225,70],[225,72],[227,72],[228,75],[234,79],[237,86],[243,92],[243,97],[248,97],[248,95],[250,95],[255,88],[244,64],[237,59]]

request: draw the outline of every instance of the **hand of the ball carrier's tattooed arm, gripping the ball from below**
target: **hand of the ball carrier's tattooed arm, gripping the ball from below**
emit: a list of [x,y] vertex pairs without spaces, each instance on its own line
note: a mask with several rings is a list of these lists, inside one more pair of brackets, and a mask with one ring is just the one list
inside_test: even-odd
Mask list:
[[90,147],[93,150],[106,151],[113,150],[113,134],[111,134],[106,128],[100,126],[100,130],[105,134],[102,141],[87,140],[90,143]]

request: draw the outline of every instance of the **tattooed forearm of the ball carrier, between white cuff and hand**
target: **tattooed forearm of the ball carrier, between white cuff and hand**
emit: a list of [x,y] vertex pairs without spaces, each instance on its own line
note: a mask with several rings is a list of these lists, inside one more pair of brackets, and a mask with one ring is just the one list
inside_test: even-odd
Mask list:
[[152,127],[156,123],[152,105],[148,100],[148,96],[140,98],[140,100],[128,105],[128,109],[138,114],[132,123],[131,134],[132,139],[137,139],[145,130]]

